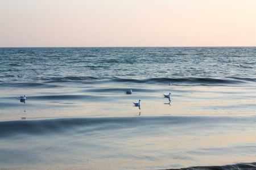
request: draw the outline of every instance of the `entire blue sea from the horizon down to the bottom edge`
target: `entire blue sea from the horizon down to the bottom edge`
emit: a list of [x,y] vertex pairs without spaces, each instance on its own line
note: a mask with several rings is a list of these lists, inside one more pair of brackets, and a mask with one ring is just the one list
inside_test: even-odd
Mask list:
[[0,48],[0,169],[256,169],[256,47]]

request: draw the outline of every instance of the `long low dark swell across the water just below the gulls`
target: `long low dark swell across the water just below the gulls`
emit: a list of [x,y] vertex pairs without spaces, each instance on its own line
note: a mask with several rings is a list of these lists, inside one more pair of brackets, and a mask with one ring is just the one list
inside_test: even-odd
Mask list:
[[[240,118],[244,122],[251,122],[255,117],[248,116]],[[71,117],[52,118],[44,120],[20,120],[20,121],[0,121],[0,138],[14,134],[47,134],[52,131],[65,131],[77,128],[90,129],[94,131],[101,129],[108,131],[111,129],[127,129],[134,127],[144,127],[155,129],[160,126],[193,126],[200,130],[204,124],[208,127],[215,127],[219,124],[237,124],[237,117],[214,116],[143,116],[143,117]],[[198,124],[200,122],[200,124]],[[204,122],[204,123],[202,123]],[[94,129],[96,128],[96,129]],[[179,129],[179,130],[182,130]]]

